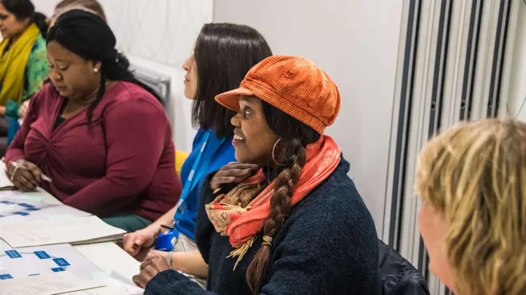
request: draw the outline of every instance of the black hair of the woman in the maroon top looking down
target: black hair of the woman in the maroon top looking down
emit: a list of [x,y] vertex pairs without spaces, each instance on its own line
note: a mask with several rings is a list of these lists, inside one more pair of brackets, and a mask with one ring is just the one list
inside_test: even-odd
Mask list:
[[47,42],[59,44],[87,61],[100,61],[100,86],[96,99],[87,110],[91,126],[93,110],[99,104],[106,91],[106,81],[126,81],[148,90],[161,103],[163,100],[149,86],[137,80],[128,67],[128,59],[115,49],[117,40],[106,22],[93,13],[84,10],[70,10],[63,13],[57,23],[47,33]]

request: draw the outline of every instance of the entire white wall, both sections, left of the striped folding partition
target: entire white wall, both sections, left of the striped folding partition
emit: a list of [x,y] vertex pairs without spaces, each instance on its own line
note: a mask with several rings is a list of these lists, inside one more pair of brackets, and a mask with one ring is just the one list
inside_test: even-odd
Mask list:
[[[195,131],[183,97],[181,64],[212,0],[102,0],[119,47],[142,67],[172,77],[177,148],[190,150]],[[50,14],[56,0],[35,0]],[[402,1],[217,0],[214,22],[248,24],[275,54],[304,56],[338,83],[343,104],[336,138],[351,162],[351,177],[381,233]]]

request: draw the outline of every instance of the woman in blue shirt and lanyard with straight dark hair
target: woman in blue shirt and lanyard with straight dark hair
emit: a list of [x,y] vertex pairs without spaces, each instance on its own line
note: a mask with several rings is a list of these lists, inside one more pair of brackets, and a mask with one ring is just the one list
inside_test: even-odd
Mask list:
[[[214,100],[239,86],[253,65],[271,56],[262,35],[249,26],[205,24],[195,42],[194,54],[183,64],[184,95],[193,99],[192,121],[198,128],[192,152],[181,170],[183,193],[179,203],[143,230],[126,234],[123,248],[137,260],[148,254],[163,255],[169,264],[200,285],[206,284],[207,266],[195,245],[195,220],[200,189],[209,173],[232,161],[233,111]],[[254,168],[239,170],[241,177]],[[154,249],[152,249],[152,247]]]

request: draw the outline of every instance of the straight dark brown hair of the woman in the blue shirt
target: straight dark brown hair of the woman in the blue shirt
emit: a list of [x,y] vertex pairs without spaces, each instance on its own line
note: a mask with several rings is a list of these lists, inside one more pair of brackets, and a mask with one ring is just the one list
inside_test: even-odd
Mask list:
[[236,114],[220,106],[214,98],[239,87],[251,67],[272,55],[263,36],[250,26],[205,24],[195,42],[197,95],[192,123],[196,128],[213,129],[218,137],[231,136],[230,119]]

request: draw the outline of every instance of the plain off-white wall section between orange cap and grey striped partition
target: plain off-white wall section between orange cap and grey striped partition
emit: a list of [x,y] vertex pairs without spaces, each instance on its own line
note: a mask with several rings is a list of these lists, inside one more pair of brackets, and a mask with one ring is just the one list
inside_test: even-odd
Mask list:
[[327,133],[382,231],[403,1],[217,0],[214,22],[248,24],[274,54],[304,56],[336,81],[342,109]]

